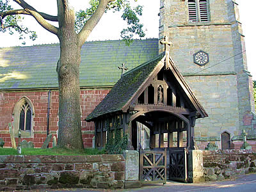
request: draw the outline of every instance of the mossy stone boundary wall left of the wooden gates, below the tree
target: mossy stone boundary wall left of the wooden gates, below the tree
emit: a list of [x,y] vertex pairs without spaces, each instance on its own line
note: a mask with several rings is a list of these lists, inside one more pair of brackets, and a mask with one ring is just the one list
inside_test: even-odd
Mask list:
[[0,156],[0,191],[124,188],[122,155]]

